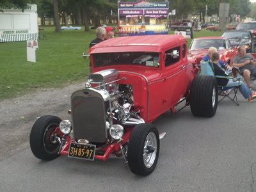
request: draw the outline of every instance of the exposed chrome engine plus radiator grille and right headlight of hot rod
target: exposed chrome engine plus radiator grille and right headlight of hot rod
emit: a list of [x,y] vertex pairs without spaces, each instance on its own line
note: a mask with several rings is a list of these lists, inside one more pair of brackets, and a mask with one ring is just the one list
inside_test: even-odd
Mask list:
[[123,79],[115,69],[102,70],[90,74],[85,89],[72,94],[74,139],[111,143],[122,138],[125,127],[144,123],[140,111],[133,110],[132,85],[118,84]]

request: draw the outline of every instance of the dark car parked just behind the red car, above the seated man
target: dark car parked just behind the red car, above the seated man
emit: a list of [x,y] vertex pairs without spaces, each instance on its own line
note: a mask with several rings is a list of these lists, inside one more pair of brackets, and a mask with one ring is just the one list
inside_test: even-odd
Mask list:
[[[252,52],[254,49],[255,38],[253,38],[252,32],[247,30],[232,30],[225,31],[222,35],[228,38],[231,46],[244,45],[246,52]],[[254,52],[254,51],[253,51]]]

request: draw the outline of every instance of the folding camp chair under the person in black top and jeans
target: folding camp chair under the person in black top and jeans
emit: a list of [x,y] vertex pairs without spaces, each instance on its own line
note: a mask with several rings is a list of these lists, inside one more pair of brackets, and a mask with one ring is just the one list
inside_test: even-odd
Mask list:
[[[225,78],[225,79],[233,79],[233,81],[238,81],[236,85],[233,86],[218,86],[218,95],[221,96],[221,99],[219,99],[218,102],[221,102],[221,100],[225,99],[226,97],[230,99],[234,104],[239,106],[238,100],[237,100],[237,91],[239,90],[239,87],[241,86],[240,78],[234,78],[230,76],[215,76],[216,78]],[[234,95],[231,95],[231,93],[234,93]]]

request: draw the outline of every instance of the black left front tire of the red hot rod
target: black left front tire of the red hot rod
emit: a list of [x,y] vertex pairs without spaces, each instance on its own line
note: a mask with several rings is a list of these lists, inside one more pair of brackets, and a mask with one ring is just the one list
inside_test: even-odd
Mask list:
[[36,120],[30,132],[30,148],[33,154],[42,160],[56,159],[60,143],[51,141],[51,134],[59,126],[61,119],[57,116],[45,115]]

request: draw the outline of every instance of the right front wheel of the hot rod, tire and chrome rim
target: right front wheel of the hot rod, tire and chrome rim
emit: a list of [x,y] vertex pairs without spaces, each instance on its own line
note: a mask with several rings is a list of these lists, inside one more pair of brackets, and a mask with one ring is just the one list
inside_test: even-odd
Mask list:
[[152,173],[156,168],[159,147],[159,133],[154,125],[136,125],[127,152],[131,172],[143,176]]

